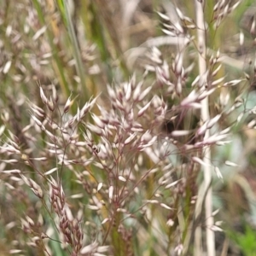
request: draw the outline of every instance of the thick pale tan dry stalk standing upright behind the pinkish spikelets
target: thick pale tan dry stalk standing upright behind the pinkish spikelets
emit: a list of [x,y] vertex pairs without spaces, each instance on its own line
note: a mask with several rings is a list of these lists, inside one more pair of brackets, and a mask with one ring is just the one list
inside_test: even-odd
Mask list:
[[[207,47],[206,47],[206,27],[204,20],[204,1],[195,0],[195,11],[196,11],[196,25],[197,25],[197,38],[198,38],[198,62],[199,72],[201,78],[207,73]],[[201,90],[206,89],[206,84],[202,83]],[[203,122],[207,122],[210,119],[209,114],[209,99],[208,96],[201,101],[201,119]],[[210,131],[207,130],[205,139],[210,137]],[[212,218],[212,188],[210,186],[212,180],[211,170],[211,148],[206,146],[204,148],[204,187],[205,193],[205,210],[206,210],[206,232],[207,232],[207,255],[215,256],[215,241],[214,232],[211,230],[213,225]],[[204,197],[204,195],[198,195]]]

